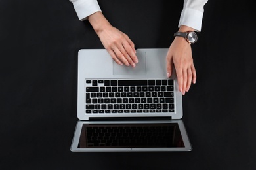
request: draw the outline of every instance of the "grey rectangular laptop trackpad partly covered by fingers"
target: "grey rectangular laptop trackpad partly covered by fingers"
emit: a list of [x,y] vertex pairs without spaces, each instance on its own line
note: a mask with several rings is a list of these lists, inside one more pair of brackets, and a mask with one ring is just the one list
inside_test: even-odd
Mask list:
[[146,75],[146,52],[137,52],[136,56],[139,62],[136,67],[127,67],[126,65],[118,65],[113,60],[113,75]]

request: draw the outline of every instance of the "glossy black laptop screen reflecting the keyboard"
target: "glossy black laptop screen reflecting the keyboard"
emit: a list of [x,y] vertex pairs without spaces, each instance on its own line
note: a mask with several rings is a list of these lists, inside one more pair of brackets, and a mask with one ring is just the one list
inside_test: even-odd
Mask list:
[[181,148],[177,123],[83,124],[78,148]]

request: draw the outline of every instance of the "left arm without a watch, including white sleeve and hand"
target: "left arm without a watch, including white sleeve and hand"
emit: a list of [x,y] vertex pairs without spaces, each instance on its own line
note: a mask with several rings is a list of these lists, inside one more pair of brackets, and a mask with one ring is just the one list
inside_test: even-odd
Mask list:
[[135,45],[129,37],[113,27],[102,14],[96,0],[70,0],[74,4],[79,20],[88,20],[100,38],[104,48],[119,65],[138,63]]

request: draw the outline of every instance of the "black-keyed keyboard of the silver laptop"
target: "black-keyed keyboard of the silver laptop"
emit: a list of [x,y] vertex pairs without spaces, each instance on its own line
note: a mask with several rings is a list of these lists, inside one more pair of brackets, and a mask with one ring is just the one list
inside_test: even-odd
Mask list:
[[85,80],[87,114],[175,112],[173,80]]

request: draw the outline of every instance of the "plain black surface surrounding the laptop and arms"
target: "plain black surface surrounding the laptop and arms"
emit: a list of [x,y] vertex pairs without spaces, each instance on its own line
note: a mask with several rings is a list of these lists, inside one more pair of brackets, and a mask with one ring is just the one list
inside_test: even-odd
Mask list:
[[[98,2],[136,48],[169,48],[182,1]],[[71,152],[77,52],[103,46],[68,0],[0,0],[0,169],[256,169],[255,7],[205,5],[183,97],[191,152]]]

